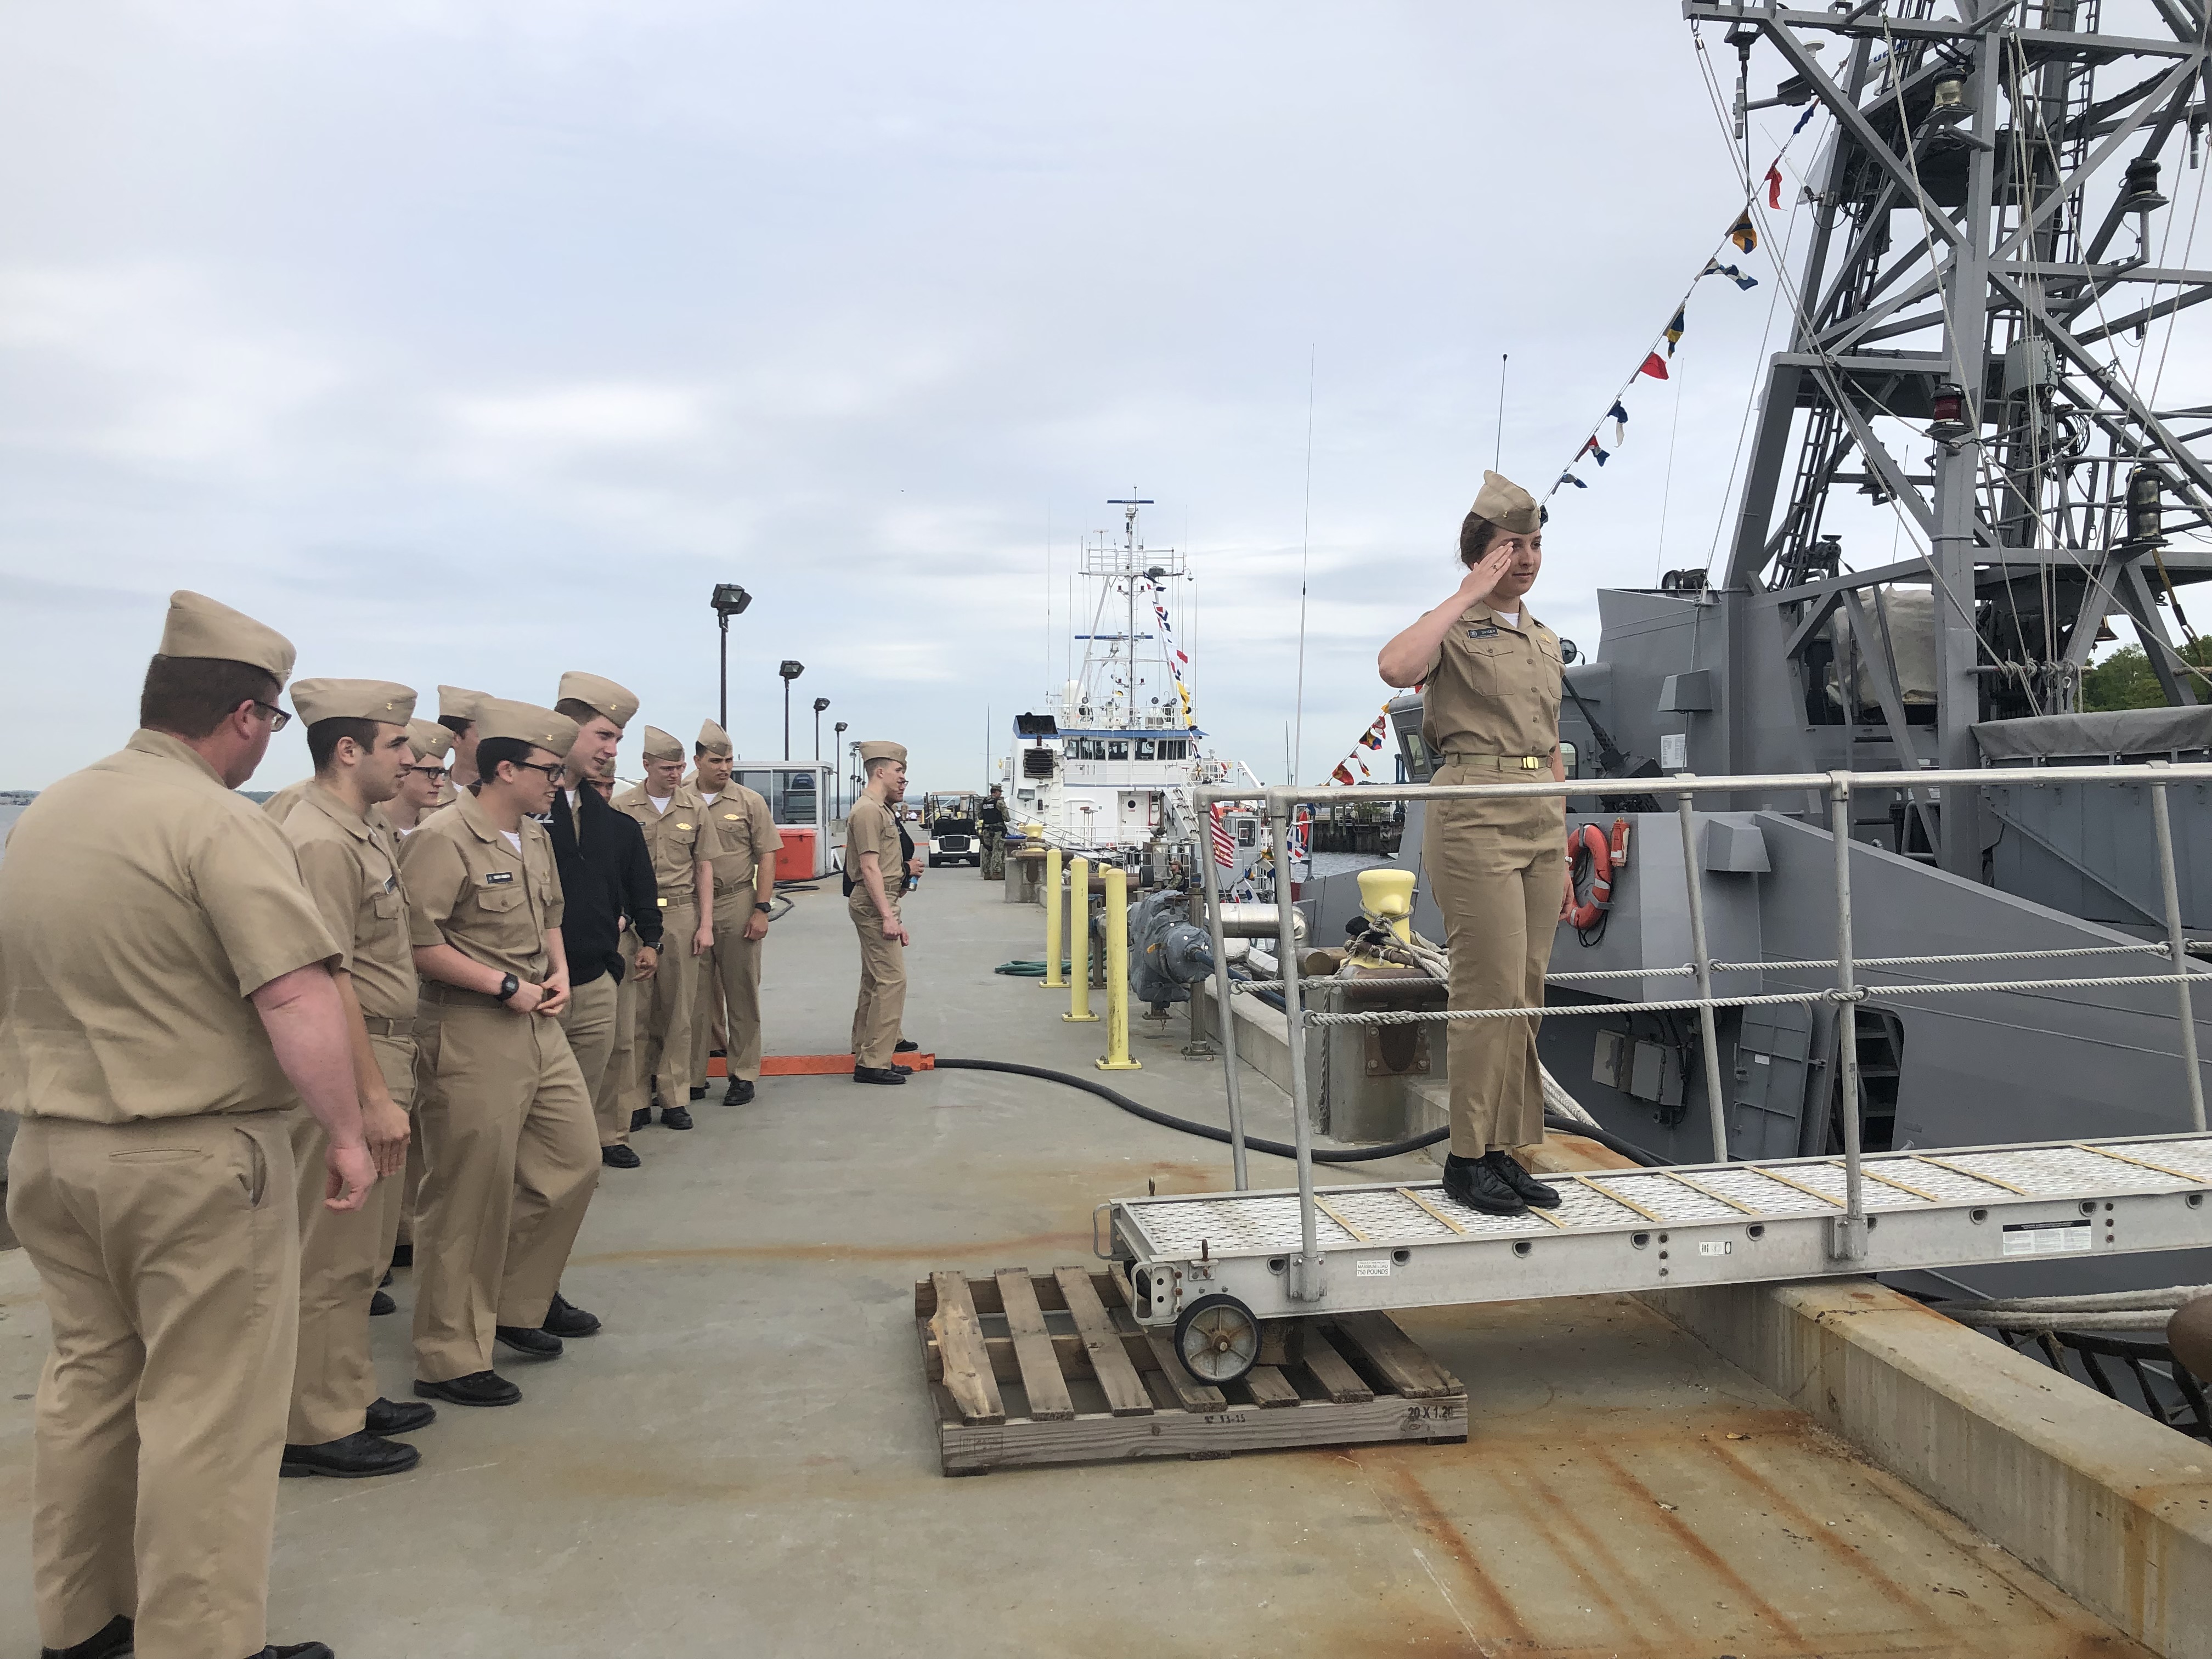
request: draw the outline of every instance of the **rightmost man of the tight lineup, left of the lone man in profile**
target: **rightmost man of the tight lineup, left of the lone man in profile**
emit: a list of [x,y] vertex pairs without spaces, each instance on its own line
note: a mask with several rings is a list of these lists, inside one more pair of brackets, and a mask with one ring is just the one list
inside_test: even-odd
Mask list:
[[721,1051],[730,1073],[721,1099],[726,1106],[743,1106],[761,1079],[761,940],[768,938],[783,832],[776,830],[776,814],[768,810],[765,796],[730,776],[737,748],[714,721],[699,726],[692,765],[699,770],[699,796],[723,847],[712,860],[714,949],[699,975],[699,1004],[692,1009],[692,1093],[706,1088],[708,1031],[721,1004],[726,1009]]

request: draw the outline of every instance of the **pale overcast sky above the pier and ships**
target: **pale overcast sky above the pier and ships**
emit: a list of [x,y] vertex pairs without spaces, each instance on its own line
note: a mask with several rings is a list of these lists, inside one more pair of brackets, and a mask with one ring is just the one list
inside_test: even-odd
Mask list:
[[[714,582],[754,593],[743,754],[781,754],[796,657],[796,708],[971,785],[1130,487],[1192,553],[1199,719],[1274,781],[1310,363],[1316,779],[1453,586],[1500,354],[1542,491],[1739,199],[1652,0],[18,0],[0,681],[35,719],[0,785],[119,745],[175,586],[301,675],[551,701],[591,668],[688,739]],[[1595,586],[1705,562],[1776,294],[1745,265],[1553,500],[1533,608],[1586,646]],[[301,772],[294,728],[257,785]]]

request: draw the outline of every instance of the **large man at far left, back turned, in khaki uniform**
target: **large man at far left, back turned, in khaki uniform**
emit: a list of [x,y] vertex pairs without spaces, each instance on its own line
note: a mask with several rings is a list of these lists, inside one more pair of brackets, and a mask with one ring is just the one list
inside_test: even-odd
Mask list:
[[38,1389],[40,1641],[106,1659],[268,1646],[299,1334],[288,1117],[323,1203],[376,1183],[323,927],[283,832],[234,794],[290,714],[292,644],[170,597],[139,730],[22,814],[0,863],[9,1223],[53,1327]]

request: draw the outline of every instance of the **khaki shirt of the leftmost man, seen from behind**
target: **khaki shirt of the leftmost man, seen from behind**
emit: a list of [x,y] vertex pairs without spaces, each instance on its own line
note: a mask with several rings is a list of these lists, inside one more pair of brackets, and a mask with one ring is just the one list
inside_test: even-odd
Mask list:
[[248,998],[338,945],[292,843],[164,732],[62,779],[0,860],[0,1108],[126,1124],[299,1097]]

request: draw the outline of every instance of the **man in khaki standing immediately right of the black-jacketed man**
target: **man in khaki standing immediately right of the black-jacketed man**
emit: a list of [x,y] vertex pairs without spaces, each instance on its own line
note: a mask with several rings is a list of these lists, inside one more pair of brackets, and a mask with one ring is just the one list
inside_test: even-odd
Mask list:
[[[690,1020],[699,1000],[699,967],[714,947],[712,858],[721,852],[721,836],[706,814],[706,801],[684,783],[684,745],[659,726],[646,728],[646,781],[615,796],[615,805],[646,832],[664,942],[650,995],[637,998],[630,1128],[653,1121],[655,1086],[661,1095],[661,1124],[690,1128]],[[701,891],[708,894],[706,907],[697,902]],[[699,1095],[703,1093],[701,1088]]]

